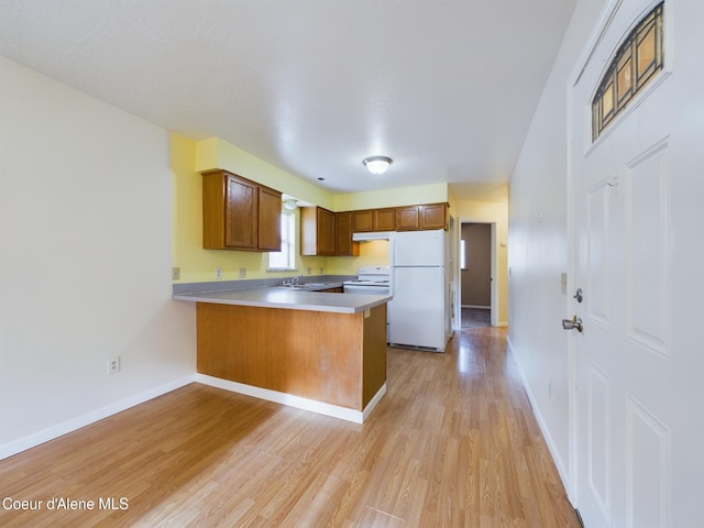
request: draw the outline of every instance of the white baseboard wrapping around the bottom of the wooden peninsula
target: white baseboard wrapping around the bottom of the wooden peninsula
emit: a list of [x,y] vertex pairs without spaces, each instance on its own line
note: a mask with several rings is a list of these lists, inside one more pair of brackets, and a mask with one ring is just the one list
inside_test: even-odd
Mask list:
[[279,393],[278,391],[272,391],[270,388],[255,387],[253,385],[245,385],[239,382],[231,382],[230,380],[208,376],[206,374],[196,374],[196,382],[202,383],[204,385],[210,385],[211,387],[230,391],[232,393],[265,399],[266,402],[273,402],[275,404],[286,405],[288,407],[295,407],[297,409],[309,410],[319,415],[330,416],[332,418],[339,418],[345,421],[352,421],[354,424],[363,424],[372,413],[372,410],[374,410],[374,407],[376,407],[382,397],[386,394],[386,383],[384,383],[384,385],[382,385],[382,387],[376,392],[364,410],[355,410],[348,407],[341,407],[339,405],[326,404],[323,402],[304,398],[301,396]]

